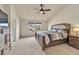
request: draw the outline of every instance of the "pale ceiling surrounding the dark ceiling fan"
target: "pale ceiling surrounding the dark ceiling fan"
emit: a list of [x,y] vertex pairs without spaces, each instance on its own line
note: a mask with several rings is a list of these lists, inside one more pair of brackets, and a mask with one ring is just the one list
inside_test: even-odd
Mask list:
[[48,21],[49,19],[56,16],[58,12],[62,10],[65,5],[63,4],[45,4],[44,8],[50,8],[51,11],[47,11],[45,15],[39,13],[38,10],[34,8],[40,9],[39,4],[16,4],[14,5],[15,10],[17,11],[19,17],[25,20],[44,20]]

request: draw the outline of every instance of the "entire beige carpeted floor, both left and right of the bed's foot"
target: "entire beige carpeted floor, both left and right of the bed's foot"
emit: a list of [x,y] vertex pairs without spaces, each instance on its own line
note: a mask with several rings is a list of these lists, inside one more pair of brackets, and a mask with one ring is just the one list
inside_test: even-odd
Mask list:
[[79,50],[61,44],[47,48],[42,51],[40,45],[34,37],[21,38],[12,44],[12,50],[8,51],[6,55],[72,55],[79,54]]

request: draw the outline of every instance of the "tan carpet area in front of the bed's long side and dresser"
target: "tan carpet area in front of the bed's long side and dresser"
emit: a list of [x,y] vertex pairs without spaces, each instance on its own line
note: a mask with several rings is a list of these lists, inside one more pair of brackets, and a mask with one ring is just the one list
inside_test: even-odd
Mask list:
[[67,44],[61,44],[47,48],[45,53],[47,55],[79,55],[79,50],[70,47]]

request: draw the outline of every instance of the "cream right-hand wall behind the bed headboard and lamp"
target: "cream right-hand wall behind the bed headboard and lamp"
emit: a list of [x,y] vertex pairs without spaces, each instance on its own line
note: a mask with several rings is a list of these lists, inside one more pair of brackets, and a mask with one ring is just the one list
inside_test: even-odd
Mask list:
[[48,30],[50,30],[51,25],[58,23],[71,24],[71,35],[73,35],[72,27],[79,27],[79,5],[67,5],[63,8],[61,12],[48,22]]

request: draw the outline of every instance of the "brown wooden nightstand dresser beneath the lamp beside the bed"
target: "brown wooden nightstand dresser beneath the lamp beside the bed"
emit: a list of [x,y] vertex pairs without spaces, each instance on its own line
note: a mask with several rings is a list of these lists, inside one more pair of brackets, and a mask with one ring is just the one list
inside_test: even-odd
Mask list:
[[79,37],[76,36],[70,36],[69,37],[69,45],[79,49]]

